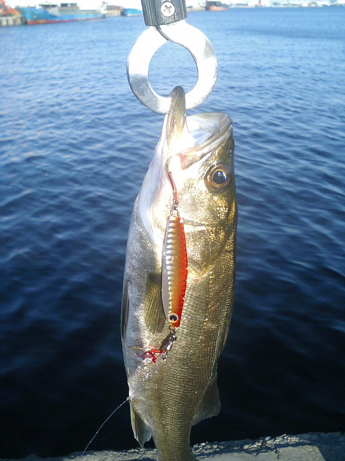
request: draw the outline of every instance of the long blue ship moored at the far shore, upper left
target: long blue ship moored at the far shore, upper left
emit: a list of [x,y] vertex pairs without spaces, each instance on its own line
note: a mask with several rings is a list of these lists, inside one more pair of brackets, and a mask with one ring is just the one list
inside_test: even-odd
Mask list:
[[36,6],[18,8],[27,24],[66,23],[101,19],[107,16],[106,3],[96,9],[81,9],[77,3],[40,3]]

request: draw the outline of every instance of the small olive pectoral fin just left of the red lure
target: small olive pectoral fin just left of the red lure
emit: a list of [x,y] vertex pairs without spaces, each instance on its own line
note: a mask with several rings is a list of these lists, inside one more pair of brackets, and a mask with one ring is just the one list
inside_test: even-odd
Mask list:
[[161,286],[161,273],[150,272],[146,283],[144,318],[151,333],[161,333],[167,321],[162,304]]

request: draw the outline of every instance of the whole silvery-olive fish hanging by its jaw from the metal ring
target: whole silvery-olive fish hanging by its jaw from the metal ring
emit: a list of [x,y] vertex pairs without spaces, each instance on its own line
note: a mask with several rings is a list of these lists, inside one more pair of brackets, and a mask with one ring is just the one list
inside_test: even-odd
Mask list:
[[[132,430],[141,447],[153,438],[158,461],[196,460],[191,428],[220,410],[217,365],[235,288],[233,156],[231,118],[187,117],[184,90],[175,87],[132,211],[121,306]],[[168,265],[172,277],[179,270],[179,304],[170,313],[169,238],[180,264]]]

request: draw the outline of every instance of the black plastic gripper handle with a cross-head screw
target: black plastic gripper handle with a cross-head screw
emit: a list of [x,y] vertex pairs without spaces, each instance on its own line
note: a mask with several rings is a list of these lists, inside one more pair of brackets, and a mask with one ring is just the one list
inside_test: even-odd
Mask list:
[[187,18],[185,0],[141,0],[147,26],[172,24]]

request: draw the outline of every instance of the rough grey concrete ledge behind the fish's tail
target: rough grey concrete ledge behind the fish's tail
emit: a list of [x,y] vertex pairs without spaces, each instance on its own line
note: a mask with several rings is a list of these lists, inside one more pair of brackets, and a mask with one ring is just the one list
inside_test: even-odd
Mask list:
[[[345,461],[345,434],[310,432],[300,435],[263,437],[259,440],[199,443],[193,452],[202,461]],[[42,461],[36,455],[25,461]],[[155,450],[88,451],[46,461],[156,461]],[[0,459],[0,461],[3,461]]]

